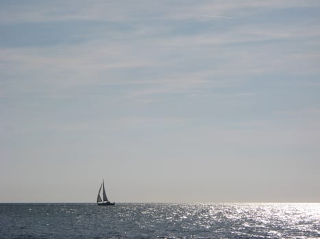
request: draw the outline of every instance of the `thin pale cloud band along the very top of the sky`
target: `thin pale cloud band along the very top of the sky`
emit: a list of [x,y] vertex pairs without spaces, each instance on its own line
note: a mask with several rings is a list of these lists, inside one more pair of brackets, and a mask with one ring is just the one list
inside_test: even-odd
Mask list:
[[[282,1],[32,1],[19,3],[1,3],[0,23],[26,23],[48,21],[112,21],[125,22],[147,18],[230,18],[252,11],[319,7],[316,0]],[[150,14],[152,12],[152,14]]]

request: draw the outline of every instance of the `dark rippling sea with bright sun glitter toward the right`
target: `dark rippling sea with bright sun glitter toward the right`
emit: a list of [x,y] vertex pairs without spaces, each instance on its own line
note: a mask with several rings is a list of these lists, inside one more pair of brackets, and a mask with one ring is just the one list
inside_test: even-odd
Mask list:
[[320,203],[1,203],[0,238],[320,238]]

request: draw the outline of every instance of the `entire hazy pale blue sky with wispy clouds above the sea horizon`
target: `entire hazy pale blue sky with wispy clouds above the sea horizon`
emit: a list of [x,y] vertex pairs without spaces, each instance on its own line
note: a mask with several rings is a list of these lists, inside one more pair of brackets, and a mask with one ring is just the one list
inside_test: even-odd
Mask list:
[[320,202],[319,11],[0,0],[0,202]]

